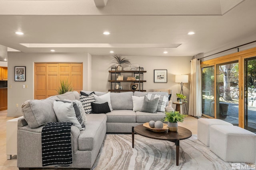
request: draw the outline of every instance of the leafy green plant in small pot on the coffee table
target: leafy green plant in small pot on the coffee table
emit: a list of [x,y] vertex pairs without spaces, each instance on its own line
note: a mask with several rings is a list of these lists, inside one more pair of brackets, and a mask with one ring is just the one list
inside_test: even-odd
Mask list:
[[178,131],[178,122],[183,122],[185,115],[180,114],[179,111],[169,111],[165,112],[165,117],[163,121],[168,121],[169,131]]

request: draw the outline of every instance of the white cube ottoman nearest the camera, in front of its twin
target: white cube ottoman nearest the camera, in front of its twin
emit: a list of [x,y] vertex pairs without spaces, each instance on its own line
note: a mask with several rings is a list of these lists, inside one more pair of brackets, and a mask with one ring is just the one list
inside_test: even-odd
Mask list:
[[212,125],[210,133],[210,150],[225,162],[256,162],[256,134],[226,125]]

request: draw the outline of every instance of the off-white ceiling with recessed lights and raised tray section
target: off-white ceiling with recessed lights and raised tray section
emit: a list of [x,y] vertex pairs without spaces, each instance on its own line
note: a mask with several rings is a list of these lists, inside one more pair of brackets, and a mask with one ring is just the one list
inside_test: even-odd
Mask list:
[[256,40],[255,7],[256,0],[0,0],[0,45],[24,53],[210,55]]

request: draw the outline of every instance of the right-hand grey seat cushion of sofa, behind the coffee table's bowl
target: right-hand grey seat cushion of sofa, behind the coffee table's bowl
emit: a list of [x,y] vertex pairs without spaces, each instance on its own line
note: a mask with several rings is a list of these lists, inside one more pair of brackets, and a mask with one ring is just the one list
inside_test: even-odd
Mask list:
[[161,120],[165,116],[164,112],[156,112],[156,113],[147,113],[142,111],[136,111],[136,121],[137,122],[149,122],[151,120],[158,121]]

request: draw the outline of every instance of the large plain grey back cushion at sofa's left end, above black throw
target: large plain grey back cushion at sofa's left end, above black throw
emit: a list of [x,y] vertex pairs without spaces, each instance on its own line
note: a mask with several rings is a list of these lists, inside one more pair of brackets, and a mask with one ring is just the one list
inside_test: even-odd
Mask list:
[[30,128],[57,121],[53,109],[54,100],[28,100],[22,104],[22,114]]

